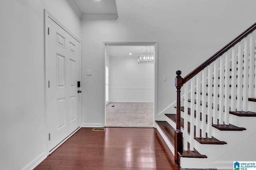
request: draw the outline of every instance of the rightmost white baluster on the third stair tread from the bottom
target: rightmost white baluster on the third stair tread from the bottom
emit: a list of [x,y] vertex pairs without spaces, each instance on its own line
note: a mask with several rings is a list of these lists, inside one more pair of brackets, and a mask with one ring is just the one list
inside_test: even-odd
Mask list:
[[224,123],[229,125],[229,85],[230,85],[230,50],[225,53],[225,87],[224,87]]

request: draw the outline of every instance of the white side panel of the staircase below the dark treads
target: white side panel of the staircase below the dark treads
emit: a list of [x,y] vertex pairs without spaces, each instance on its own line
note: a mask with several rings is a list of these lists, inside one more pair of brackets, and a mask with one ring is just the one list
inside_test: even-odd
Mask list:
[[[232,169],[233,161],[253,161],[256,149],[252,148],[248,154],[248,148],[243,149],[241,146],[254,146],[256,139],[256,130],[254,122],[256,117],[238,117],[230,115],[236,126],[244,127],[245,131],[220,131],[212,127],[212,135],[220,141],[227,142],[226,145],[206,145],[200,144],[194,139],[194,148],[208,158],[180,158],[182,168],[202,168],[202,169]],[[166,121],[175,129],[176,123],[168,117]],[[183,129],[182,129],[183,131]],[[239,137],[239,138],[237,138]],[[252,140],[250,140],[252,139]],[[254,140],[253,140],[254,139]],[[234,149],[239,148],[239,153],[234,153]],[[250,147],[249,147],[250,148]],[[220,152],[221,151],[221,152]]]

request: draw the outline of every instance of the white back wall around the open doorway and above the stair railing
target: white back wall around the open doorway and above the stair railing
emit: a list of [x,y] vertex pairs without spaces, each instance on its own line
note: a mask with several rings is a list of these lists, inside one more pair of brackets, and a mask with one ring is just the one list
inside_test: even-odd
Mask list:
[[82,78],[84,125],[104,125],[102,42],[158,41],[158,114],[176,100],[176,70],[184,77],[252,25],[255,6],[255,0],[117,0],[116,20],[82,21],[82,67],[93,70]]

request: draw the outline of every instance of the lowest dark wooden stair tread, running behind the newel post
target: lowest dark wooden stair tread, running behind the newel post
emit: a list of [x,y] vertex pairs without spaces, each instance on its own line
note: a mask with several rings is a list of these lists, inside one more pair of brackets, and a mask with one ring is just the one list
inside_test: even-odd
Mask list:
[[[174,146],[174,131],[175,129],[167,121],[156,121],[160,129],[163,131],[164,135],[168,138],[172,146]],[[184,150],[179,152],[180,157],[186,158],[207,158],[206,155],[200,154],[197,150]]]

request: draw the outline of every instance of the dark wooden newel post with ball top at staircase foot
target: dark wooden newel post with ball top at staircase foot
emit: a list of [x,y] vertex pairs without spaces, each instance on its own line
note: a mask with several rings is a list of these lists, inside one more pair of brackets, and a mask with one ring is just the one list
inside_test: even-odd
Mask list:
[[180,165],[180,156],[178,152],[183,152],[183,135],[180,127],[180,89],[183,85],[183,78],[180,76],[181,71],[176,71],[175,86],[177,88],[177,111],[176,111],[176,130],[174,132],[174,160]]

